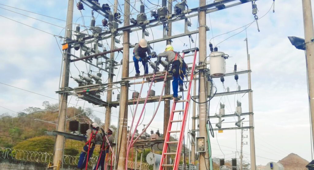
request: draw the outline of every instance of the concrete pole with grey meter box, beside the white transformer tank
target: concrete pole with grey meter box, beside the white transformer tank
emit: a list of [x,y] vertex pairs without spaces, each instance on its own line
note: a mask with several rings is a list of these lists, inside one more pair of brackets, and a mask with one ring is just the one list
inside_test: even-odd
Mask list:
[[[205,0],[199,0],[199,6],[206,5]],[[199,44],[199,53],[198,53],[198,61],[199,64],[203,64],[203,61],[206,58],[206,10],[200,11],[198,13],[198,21],[199,21],[199,33],[198,33],[198,44]],[[205,61],[206,62],[206,61]],[[198,83],[198,96],[199,102],[203,103],[206,101],[207,96],[205,92],[206,82],[204,81],[204,73],[201,71],[199,72],[199,83]],[[205,146],[207,144],[207,132],[206,132],[206,120],[207,120],[207,113],[206,113],[206,103],[199,104],[199,136],[205,137]],[[199,169],[209,169],[209,161],[208,161],[208,151],[201,153],[199,155]]]

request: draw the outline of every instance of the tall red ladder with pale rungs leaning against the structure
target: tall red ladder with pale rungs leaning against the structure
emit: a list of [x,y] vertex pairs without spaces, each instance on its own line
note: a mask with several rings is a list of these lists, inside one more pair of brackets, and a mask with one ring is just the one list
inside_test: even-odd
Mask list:
[[[162,170],[165,167],[172,167],[172,166],[173,166],[173,169],[176,170],[176,169],[178,169],[178,166],[179,166],[179,161],[180,161],[180,157],[181,157],[181,150],[182,150],[182,141],[183,141],[183,136],[184,136],[185,125],[187,122],[188,109],[189,109],[190,100],[191,100],[190,91],[191,91],[191,86],[192,86],[193,72],[194,72],[194,68],[195,68],[196,53],[198,51],[198,48],[193,48],[193,49],[182,51],[183,52],[182,57],[184,57],[184,53],[189,53],[190,51],[194,51],[194,58],[193,58],[193,64],[192,64],[192,69],[191,69],[191,76],[190,76],[190,80],[189,80],[189,86],[187,89],[187,98],[183,99],[183,100],[174,101],[172,103],[170,118],[169,118],[168,127],[167,127],[167,133],[165,135],[165,143],[164,143],[164,146],[162,149],[162,155],[161,155],[160,164],[159,164],[159,170]],[[185,102],[183,110],[182,109],[175,110],[176,109],[176,103],[179,103],[179,102]],[[176,112],[183,112],[183,119],[182,120],[173,120],[174,113],[176,113]],[[171,130],[171,125],[173,122],[181,122],[182,123],[180,130]],[[176,133],[176,132],[180,133],[178,141],[169,141],[170,134]],[[171,143],[177,143],[178,144],[176,152],[167,152],[168,144],[171,144]],[[166,159],[166,155],[176,155],[176,157],[173,161],[173,164],[164,164],[164,161]]]

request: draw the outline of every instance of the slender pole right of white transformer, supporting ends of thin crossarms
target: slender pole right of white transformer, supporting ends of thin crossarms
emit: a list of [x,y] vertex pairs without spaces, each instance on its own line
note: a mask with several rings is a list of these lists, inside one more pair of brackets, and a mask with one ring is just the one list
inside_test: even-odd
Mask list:
[[[251,70],[251,61],[250,61],[250,54],[248,50],[248,45],[247,45],[247,38],[245,39],[246,41],[246,54],[247,54],[247,70]],[[247,81],[248,81],[248,89],[251,88],[251,72],[247,73]],[[252,92],[248,93],[249,96],[249,112],[253,112],[253,103],[252,103]],[[250,157],[251,157],[251,170],[256,169],[256,160],[255,160],[255,139],[254,139],[254,124],[253,124],[253,114],[249,115],[249,125],[252,127],[250,128]]]

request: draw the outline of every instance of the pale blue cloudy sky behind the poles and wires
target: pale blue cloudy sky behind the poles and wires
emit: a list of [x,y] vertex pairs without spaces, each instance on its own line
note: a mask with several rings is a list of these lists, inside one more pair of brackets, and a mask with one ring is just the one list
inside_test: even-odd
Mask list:
[[[112,5],[111,1],[99,1],[101,4],[108,3]],[[151,0],[150,2],[161,4],[161,2],[156,0]],[[211,0],[207,1],[207,3],[212,2]],[[121,8],[119,7],[118,10],[121,13],[123,13],[124,9],[123,3],[123,0],[119,0]],[[145,0],[144,3],[149,8],[156,8],[153,4],[150,4],[148,0]],[[217,45],[219,51],[230,56],[230,58],[226,60],[226,72],[232,72],[235,63],[237,64],[238,71],[247,70],[246,41],[244,41],[247,36],[248,51],[251,56],[257,165],[266,165],[267,162],[270,161],[277,162],[290,153],[298,154],[307,161],[312,160],[305,54],[304,51],[298,50],[292,46],[287,38],[287,36],[304,38],[302,4],[294,0],[276,0],[274,3],[275,12],[273,13],[273,1],[259,0],[256,2],[260,32],[257,31],[256,22],[252,23],[254,16],[252,15],[251,3],[241,4],[236,7],[206,14],[206,25],[210,29],[206,34],[206,43],[208,45],[208,43],[211,42],[214,46]],[[173,2],[173,4],[176,4],[176,2]],[[195,8],[198,6],[198,1],[190,0],[187,4],[189,8]],[[131,13],[133,14],[132,17],[136,18],[140,3],[136,1],[134,4],[134,0],[131,0],[131,5],[135,6],[135,9],[131,8]],[[84,9],[85,10],[82,10],[82,13],[80,13],[74,4],[73,23],[80,24],[81,31],[87,29],[86,27],[84,28],[84,26],[88,27],[91,19],[91,10],[87,6],[84,6]],[[149,10],[145,12],[147,12],[148,19],[150,19]],[[43,108],[43,101],[49,101],[50,103],[58,102],[58,95],[55,91],[59,88],[62,63],[62,55],[59,48],[61,47],[60,44],[63,43],[63,39],[60,39],[58,36],[64,37],[64,20],[66,20],[66,13],[67,1],[64,0],[1,1],[0,23],[3,27],[0,32],[0,37],[2,37],[3,41],[0,41],[0,71],[2,72],[0,76],[0,114],[7,113],[16,115],[16,112],[20,112],[28,107]],[[102,16],[94,12],[94,17],[96,17],[96,25],[101,25]],[[191,18],[191,23],[192,26],[188,27],[189,31],[198,29],[197,17]],[[183,33],[183,24],[183,21],[173,23],[172,34],[177,35]],[[245,25],[247,29],[245,29]],[[119,27],[120,26],[122,26],[122,24],[120,24]],[[73,29],[75,29],[75,25]],[[150,35],[146,37],[146,40],[162,38],[162,26],[154,27],[147,31]],[[88,30],[84,32],[88,34],[91,33]],[[138,42],[140,36],[140,31],[132,32],[130,34],[130,43],[134,44]],[[192,38],[194,43],[190,42],[188,37],[181,37],[173,39],[172,45],[176,51],[188,49],[190,46],[191,48],[198,46],[198,34],[192,35]],[[117,39],[122,42],[123,37],[118,36]],[[107,39],[107,41],[103,40],[101,42],[107,50],[110,49],[108,46],[110,41],[110,39]],[[116,44],[116,46],[122,47],[122,43]],[[163,51],[165,42],[155,43],[152,46],[154,51],[159,53]],[[99,50],[103,49],[99,48]],[[79,51],[72,50],[72,53],[77,56],[79,55]],[[210,50],[208,48],[207,55],[209,55],[209,53]],[[115,53],[115,58],[117,62],[120,62],[122,54]],[[191,62],[192,57],[188,57],[185,60],[187,63]],[[95,61],[93,62],[95,63]],[[79,74],[82,74],[82,71],[86,73],[90,69],[96,72],[98,71],[97,68],[90,67],[83,61],[75,62],[75,65],[71,63],[71,76],[78,77]],[[120,80],[121,71],[121,66],[117,66],[114,81]],[[140,71],[143,73],[142,67]],[[151,68],[149,68],[149,72],[152,72]],[[135,74],[133,64],[130,64],[129,73],[130,76],[134,76]],[[103,72],[103,82],[105,82],[107,77],[106,72]],[[217,88],[217,93],[226,91],[227,87],[230,88],[230,91],[236,91],[238,85],[241,86],[241,89],[247,89],[247,74],[239,75],[238,82],[234,80],[233,76],[225,77],[225,88],[219,78],[214,78],[214,84]],[[156,83],[153,85],[156,95],[159,95],[162,84]],[[74,82],[73,79],[70,79],[69,87],[77,87],[77,83]],[[129,88],[129,97],[132,95],[132,90],[138,90],[139,88],[140,85],[131,86]],[[141,95],[142,97],[146,96],[145,92],[147,90],[148,84],[145,84]],[[116,100],[116,94],[118,94],[119,91],[113,91],[113,100]],[[184,93],[184,96],[186,96],[186,93]],[[106,93],[102,94],[101,98],[105,100]],[[210,102],[210,115],[215,115],[215,113],[219,112],[218,105],[220,102],[225,104],[226,114],[234,113],[237,100],[242,103],[242,112],[248,112],[248,96],[247,94],[239,94],[221,98],[214,97]],[[68,103],[69,107],[90,107],[94,110],[96,117],[99,117],[101,120],[105,119],[105,108],[93,106],[92,104],[78,100],[75,96],[69,97]],[[157,104],[146,105],[142,124],[147,124],[152,117],[153,111],[148,108],[155,108],[156,105]],[[131,112],[133,112],[134,107],[133,105],[129,106],[128,125],[130,125],[130,121],[132,120]],[[139,105],[136,120],[138,120],[142,108],[143,105]],[[111,123],[113,125],[117,125],[118,112],[119,107],[112,109]],[[148,131],[155,131],[157,129],[162,131],[162,126],[160,126],[163,123],[162,115],[163,102]],[[186,131],[191,129],[192,109],[190,109],[188,116],[189,119]],[[243,120],[244,125],[248,125],[248,116],[243,116],[243,118],[245,118],[245,120]],[[235,127],[235,120],[236,117],[226,119],[226,123],[224,122],[222,127]],[[210,119],[210,121],[213,127],[215,127],[215,123],[218,122],[218,119],[213,118]],[[143,125],[140,125],[138,130],[142,128]],[[248,145],[243,146],[243,154],[244,160],[249,162],[250,136],[248,131],[244,131],[243,134],[245,136],[248,135],[248,138],[244,138],[244,142],[247,142]],[[186,133],[185,136],[186,143],[188,143],[188,134]],[[224,130],[223,133],[216,133],[214,131],[214,138],[211,137],[212,156],[220,158],[225,157],[225,159],[231,159],[233,157],[239,158],[240,140],[241,130]]]

